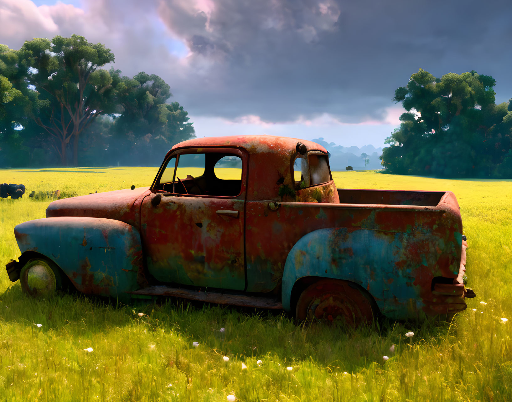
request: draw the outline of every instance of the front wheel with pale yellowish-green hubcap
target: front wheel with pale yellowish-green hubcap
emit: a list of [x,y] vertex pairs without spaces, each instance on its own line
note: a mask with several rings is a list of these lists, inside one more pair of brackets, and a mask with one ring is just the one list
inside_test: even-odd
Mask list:
[[19,273],[22,292],[34,298],[52,298],[62,286],[58,267],[43,258],[27,261]]

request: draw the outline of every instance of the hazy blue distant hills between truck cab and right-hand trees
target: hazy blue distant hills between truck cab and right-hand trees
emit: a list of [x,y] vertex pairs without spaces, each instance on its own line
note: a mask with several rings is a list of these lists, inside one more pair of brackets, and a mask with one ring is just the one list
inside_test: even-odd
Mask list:
[[[331,157],[329,158],[329,165],[331,170],[345,170],[346,166],[352,166],[354,170],[374,170],[381,169],[380,155],[382,155],[382,148],[375,148],[373,145],[365,145],[361,148],[356,146],[343,147],[331,142],[324,141],[323,137],[311,140],[317,144],[322,145],[329,151]],[[361,154],[366,153],[369,157],[368,165],[365,166],[364,158]]]

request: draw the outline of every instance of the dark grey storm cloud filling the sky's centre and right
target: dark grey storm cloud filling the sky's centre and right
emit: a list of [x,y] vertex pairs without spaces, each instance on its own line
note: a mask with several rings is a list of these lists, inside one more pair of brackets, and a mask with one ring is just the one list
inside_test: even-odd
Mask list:
[[165,0],[159,11],[194,53],[188,79],[172,86],[195,114],[379,119],[420,67],[493,75],[498,95],[512,97],[509,1],[189,4]]

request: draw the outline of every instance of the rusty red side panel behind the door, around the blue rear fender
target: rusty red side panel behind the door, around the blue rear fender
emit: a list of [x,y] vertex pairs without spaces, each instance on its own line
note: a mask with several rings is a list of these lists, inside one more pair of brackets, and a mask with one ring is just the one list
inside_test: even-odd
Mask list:
[[411,261],[428,266],[429,274],[415,279],[425,289],[430,289],[432,277],[455,278],[459,271],[462,222],[459,211],[451,208],[282,203],[272,211],[268,202],[248,202],[246,216],[249,292],[272,291],[281,282],[295,243],[314,230],[326,228],[401,236],[407,254],[394,264],[397,269],[409,267]]

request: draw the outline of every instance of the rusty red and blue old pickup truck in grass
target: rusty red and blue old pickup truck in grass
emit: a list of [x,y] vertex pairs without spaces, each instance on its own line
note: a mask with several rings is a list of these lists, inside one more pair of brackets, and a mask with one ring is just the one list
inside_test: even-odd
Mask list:
[[464,310],[475,294],[455,195],[337,189],[328,157],[284,137],[182,142],[150,187],[56,200],[17,225],[9,278],[36,297],[69,284],[349,324]]

